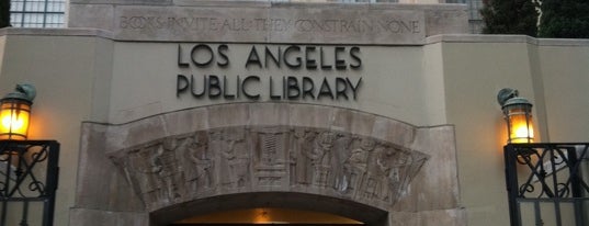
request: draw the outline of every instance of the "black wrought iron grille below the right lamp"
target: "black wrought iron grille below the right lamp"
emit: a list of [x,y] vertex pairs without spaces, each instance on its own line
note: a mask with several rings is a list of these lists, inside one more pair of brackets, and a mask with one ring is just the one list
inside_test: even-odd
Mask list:
[[589,144],[505,146],[511,226],[589,225]]

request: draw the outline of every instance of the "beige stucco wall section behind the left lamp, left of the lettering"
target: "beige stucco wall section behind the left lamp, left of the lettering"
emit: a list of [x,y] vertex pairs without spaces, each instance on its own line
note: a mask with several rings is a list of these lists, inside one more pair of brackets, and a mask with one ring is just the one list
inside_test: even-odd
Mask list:
[[[0,92],[12,92],[23,82],[36,87],[29,138],[61,144],[55,225],[67,225],[76,191],[80,123],[100,120],[105,110],[101,104],[109,93],[101,84],[109,80],[112,42],[95,32],[2,32]],[[19,34],[10,35],[13,32]]]

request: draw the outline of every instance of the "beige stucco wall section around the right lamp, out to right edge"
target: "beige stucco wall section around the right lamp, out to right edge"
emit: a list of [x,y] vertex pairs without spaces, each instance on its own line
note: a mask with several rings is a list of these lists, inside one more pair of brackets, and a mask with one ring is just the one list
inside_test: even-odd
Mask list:
[[534,104],[535,142],[587,142],[588,42],[455,35],[430,41],[442,43],[445,113],[456,126],[468,224],[508,225],[507,135],[497,92],[514,88]]

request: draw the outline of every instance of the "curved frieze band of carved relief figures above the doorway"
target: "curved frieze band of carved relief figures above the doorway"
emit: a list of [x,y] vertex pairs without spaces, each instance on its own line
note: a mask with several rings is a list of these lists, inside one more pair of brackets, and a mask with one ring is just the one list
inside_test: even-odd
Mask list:
[[385,140],[296,126],[236,126],[115,151],[148,210],[236,192],[294,191],[390,206],[428,156]]

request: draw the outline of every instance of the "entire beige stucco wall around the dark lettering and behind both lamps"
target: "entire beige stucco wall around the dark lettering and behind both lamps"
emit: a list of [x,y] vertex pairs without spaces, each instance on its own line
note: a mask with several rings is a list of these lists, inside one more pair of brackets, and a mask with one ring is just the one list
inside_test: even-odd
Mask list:
[[[219,71],[178,68],[177,43],[115,42],[107,34],[87,30],[2,32],[0,93],[12,91],[18,82],[34,83],[38,95],[30,137],[61,143],[56,225],[67,225],[69,208],[75,207],[81,122],[117,124],[225,102],[175,98],[177,74]],[[229,46],[239,56],[233,57],[231,67],[220,70],[228,76],[308,72],[247,71],[239,60],[246,59],[251,45]],[[363,69],[343,72],[364,79],[359,100],[313,103],[371,112],[416,126],[453,125],[458,202],[466,210],[468,225],[508,224],[501,152],[506,136],[496,102],[501,88],[516,88],[534,103],[542,142],[587,140],[587,41],[442,35],[429,37],[424,46],[360,47]]]

